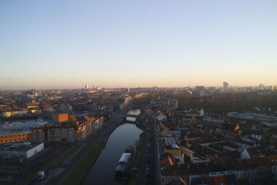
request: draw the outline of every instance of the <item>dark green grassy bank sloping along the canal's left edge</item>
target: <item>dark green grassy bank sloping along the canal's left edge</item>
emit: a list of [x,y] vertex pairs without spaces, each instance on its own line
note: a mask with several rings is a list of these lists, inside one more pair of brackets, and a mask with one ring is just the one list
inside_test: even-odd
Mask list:
[[91,170],[91,167],[98,159],[103,146],[104,143],[102,141],[98,141],[78,162],[71,173],[66,176],[61,185],[81,184],[84,177],[87,176],[87,173],[89,173],[89,170]]

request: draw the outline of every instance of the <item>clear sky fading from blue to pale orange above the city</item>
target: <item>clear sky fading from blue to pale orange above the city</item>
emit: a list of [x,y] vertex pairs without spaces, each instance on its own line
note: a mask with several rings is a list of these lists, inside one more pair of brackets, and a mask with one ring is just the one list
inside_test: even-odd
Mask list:
[[0,1],[0,89],[277,83],[277,1]]

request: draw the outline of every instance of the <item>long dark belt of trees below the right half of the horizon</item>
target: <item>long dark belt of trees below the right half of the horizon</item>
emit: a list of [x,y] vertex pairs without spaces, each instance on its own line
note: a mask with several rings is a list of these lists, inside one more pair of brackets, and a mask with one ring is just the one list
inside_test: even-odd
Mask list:
[[177,99],[179,109],[199,107],[204,108],[206,112],[243,112],[254,111],[256,107],[262,110],[265,107],[268,110],[270,107],[271,110],[277,110],[277,94],[258,94],[256,92],[211,94],[201,98],[190,94],[161,92],[159,94],[148,94],[143,98],[136,98],[132,103],[137,107],[149,105],[150,100],[157,96]]

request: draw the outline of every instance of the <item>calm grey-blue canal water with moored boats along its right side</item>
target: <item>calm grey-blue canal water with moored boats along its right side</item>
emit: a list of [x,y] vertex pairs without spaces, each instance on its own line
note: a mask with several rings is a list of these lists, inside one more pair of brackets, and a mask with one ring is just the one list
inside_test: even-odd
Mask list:
[[142,132],[132,123],[116,127],[110,134],[105,148],[91,168],[89,175],[84,179],[83,185],[125,184],[116,180],[114,170],[125,148],[134,146],[134,143],[139,141],[139,135]]

